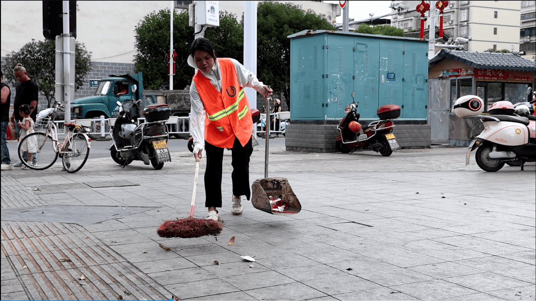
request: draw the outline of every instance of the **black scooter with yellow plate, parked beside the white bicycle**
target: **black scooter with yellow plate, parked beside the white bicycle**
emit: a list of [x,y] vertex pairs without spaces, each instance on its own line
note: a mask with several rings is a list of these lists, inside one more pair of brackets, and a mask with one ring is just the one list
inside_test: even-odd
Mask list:
[[137,125],[135,119],[139,116],[140,102],[134,99],[123,103],[117,101],[119,116],[111,134],[114,143],[110,147],[110,155],[121,167],[140,160],[145,165],[151,162],[154,169],[162,169],[164,162],[171,161],[166,126],[171,110],[168,104],[151,104],[143,111],[145,122]]

